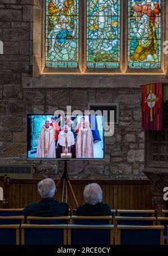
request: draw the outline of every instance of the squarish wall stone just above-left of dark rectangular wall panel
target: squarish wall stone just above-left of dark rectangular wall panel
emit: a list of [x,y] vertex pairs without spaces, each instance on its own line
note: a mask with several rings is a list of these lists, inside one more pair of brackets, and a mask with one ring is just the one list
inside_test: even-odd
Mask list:
[[70,105],[87,106],[87,91],[74,89],[70,91]]

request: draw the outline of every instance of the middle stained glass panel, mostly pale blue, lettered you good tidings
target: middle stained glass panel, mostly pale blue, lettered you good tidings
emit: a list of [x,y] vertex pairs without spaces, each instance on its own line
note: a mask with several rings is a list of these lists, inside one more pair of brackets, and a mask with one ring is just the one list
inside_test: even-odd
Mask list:
[[119,68],[120,0],[87,0],[87,68]]

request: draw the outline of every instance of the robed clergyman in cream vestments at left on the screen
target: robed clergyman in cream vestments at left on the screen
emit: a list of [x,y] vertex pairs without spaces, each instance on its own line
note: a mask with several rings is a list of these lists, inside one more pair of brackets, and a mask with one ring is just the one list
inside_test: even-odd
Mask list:
[[41,128],[36,158],[56,158],[55,134],[49,121]]

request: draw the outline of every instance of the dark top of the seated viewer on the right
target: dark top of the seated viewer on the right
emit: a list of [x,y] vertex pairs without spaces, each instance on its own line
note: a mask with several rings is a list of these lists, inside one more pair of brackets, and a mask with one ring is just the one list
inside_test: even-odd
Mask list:
[[76,215],[81,216],[108,216],[111,209],[108,204],[98,203],[96,205],[82,204],[76,209]]

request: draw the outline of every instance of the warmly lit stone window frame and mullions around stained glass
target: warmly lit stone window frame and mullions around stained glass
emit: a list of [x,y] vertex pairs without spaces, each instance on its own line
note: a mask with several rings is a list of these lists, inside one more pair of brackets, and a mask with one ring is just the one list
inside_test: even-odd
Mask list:
[[[130,69],[128,68],[128,2],[120,0],[120,68],[86,68],[86,2],[87,0],[79,0],[79,68],[45,68],[45,0],[41,0],[40,14],[41,19],[37,23],[36,6],[34,6],[34,22],[32,23],[33,38],[33,58],[32,58],[32,75],[38,77],[39,74],[144,74],[144,75],[165,75],[167,74],[168,56],[164,55],[163,43],[168,38],[168,32],[165,28],[166,24],[166,2],[162,0],[162,53],[161,53],[161,69]],[[41,30],[40,30],[41,26]],[[41,48],[39,47],[41,43]],[[41,51],[41,52],[40,52]]]

